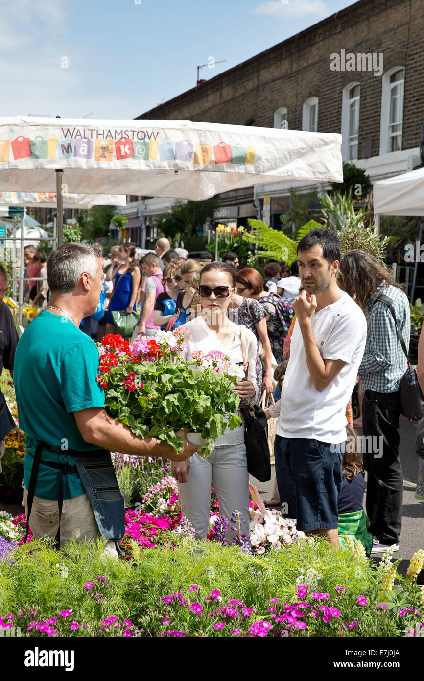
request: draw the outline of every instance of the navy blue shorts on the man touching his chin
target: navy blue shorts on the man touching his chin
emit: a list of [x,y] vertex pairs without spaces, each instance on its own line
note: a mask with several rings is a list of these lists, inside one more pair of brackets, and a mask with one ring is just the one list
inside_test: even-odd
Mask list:
[[335,530],[342,490],[345,443],[282,437],[280,449],[293,477],[299,530]]

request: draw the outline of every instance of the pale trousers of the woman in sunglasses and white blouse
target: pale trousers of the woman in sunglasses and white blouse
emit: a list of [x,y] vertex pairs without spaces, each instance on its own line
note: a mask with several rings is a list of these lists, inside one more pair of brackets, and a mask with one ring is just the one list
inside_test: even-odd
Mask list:
[[227,543],[238,535],[238,523],[235,523],[236,530],[231,530],[231,515],[235,509],[241,512],[240,528],[249,537],[249,479],[244,443],[216,447],[206,459],[198,454],[191,457],[189,481],[179,482],[178,491],[182,515],[195,527],[196,539],[206,539],[208,535],[212,478],[219,514],[229,520]]

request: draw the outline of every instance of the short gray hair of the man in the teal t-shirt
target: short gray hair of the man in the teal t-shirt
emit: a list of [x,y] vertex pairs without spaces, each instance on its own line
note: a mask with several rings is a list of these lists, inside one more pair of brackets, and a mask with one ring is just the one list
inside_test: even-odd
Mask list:
[[52,251],[47,260],[47,282],[52,293],[70,294],[83,272],[95,279],[99,260],[93,246],[69,243]]

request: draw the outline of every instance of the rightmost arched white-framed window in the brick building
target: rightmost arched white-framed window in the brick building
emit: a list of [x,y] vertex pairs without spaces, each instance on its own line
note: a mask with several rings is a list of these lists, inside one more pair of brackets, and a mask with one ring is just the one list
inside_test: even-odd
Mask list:
[[380,154],[402,151],[405,69],[396,66],[382,77]]

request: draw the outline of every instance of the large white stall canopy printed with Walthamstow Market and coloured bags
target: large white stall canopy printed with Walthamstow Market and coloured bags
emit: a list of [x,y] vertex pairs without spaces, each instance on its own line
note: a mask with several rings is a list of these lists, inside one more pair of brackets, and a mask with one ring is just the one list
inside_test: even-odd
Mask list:
[[[342,182],[342,136],[192,121],[0,118],[0,187],[205,200],[284,180]],[[117,172],[119,171],[119,172]]]

